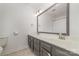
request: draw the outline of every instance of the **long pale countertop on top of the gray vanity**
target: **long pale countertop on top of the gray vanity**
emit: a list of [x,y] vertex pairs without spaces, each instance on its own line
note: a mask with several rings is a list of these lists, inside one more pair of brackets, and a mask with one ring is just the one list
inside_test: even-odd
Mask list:
[[45,42],[48,42],[50,44],[54,44],[58,47],[64,48],[73,53],[79,54],[79,39],[62,40],[62,39],[58,39],[58,36],[53,36],[53,35],[37,35],[37,34],[29,34],[29,35],[36,37],[37,39],[43,40]]

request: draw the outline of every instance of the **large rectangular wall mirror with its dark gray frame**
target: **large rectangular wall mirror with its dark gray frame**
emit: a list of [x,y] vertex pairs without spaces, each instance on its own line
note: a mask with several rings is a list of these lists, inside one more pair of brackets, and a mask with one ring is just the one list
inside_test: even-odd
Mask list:
[[37,32],[69,35],[69,4],[55,3],[37,16]]

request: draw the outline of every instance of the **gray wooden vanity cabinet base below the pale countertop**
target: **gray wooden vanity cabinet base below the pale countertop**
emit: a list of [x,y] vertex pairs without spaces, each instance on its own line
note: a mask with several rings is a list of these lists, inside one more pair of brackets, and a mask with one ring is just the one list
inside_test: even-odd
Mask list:
[[79,56],[71,51],[28,35],[28,45],[37,56]]

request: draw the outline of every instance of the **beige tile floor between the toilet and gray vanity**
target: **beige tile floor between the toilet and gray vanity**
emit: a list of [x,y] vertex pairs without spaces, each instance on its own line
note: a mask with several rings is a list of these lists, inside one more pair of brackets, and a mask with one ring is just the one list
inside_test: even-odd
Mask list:
[[17,52],[5,55],[5,56],[34,56],[33,52],[28,49],[19,50]]

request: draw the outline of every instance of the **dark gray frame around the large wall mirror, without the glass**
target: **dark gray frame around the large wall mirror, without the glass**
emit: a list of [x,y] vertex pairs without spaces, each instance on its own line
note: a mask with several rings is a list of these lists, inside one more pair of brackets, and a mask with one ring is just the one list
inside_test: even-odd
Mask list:
[[[39,33],[46,33],[46,34],[59,34],[59,33],[53,33],[53,32],[40,32],[38,31],[39,27],[38,27],[38,22],[39,22],[39,16],[42,15],[43,13],[45,13],[46,11],[48,11],[49,9],[51,9],[52,7],[54,7],[57,3],[53,4],[52,6],[50,6],[49,8],[47,8],[46,10],[44,10],[42,13],[40,13],[39,15],[37,15],[37,34]],[[70,4],[67,3],[67,13],[66,13],[66,33],[62,33],[62,35],[70,35],[70,31],[69,31],[69,6]]]

